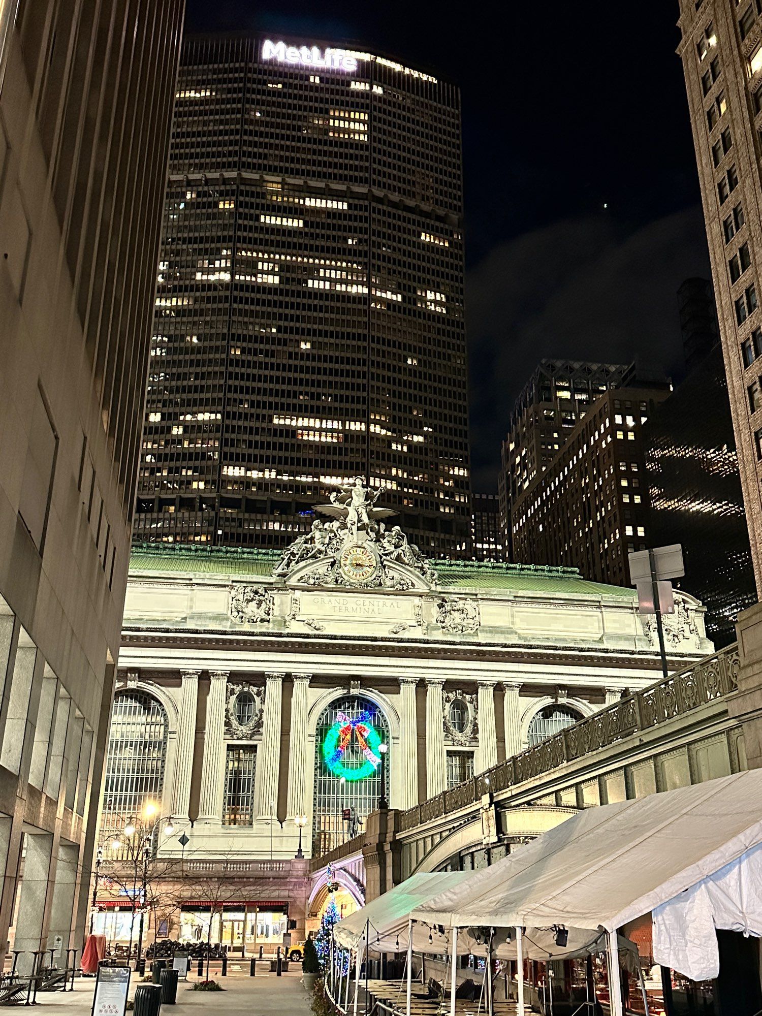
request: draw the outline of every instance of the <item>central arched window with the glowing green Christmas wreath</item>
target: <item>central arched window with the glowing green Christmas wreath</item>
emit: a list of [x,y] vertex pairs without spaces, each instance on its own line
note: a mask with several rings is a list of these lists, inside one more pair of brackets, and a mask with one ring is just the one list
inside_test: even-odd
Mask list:
[[386,717],[369,699],[347,695],[323,711],[315,736],[313,856],[362,831],[382,797],[382,768],[388,800],[392,760],[387,750],[382,767],[382,745],[389,749]]

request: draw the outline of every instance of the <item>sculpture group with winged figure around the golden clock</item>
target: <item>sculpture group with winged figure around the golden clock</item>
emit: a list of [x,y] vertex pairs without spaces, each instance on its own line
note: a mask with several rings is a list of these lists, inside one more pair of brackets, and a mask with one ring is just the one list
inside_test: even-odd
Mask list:
[[435,585],[437,574],[425,555],[398,525],[387,528],[381,521],[396,513],[377,507],[380,493],[360,478],[335,491],[329,505],[316,509],[331,521],[315,519],[310,531],[283,552],[273,576],[306,585],[353,588],[405,590],[417,584]]

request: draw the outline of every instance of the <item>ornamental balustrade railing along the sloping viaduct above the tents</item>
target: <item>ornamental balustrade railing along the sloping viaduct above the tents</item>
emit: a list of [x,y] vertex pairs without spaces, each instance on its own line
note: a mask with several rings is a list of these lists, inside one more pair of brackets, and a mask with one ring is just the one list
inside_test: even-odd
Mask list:
[[400,831],[468,808],[480,803],[485,793],[535,779],[638,732],[653,729],[724,698],[738,689],[738,674],[739,651],[734,644],[580,719],[465,783],[407,809],[400,815]]

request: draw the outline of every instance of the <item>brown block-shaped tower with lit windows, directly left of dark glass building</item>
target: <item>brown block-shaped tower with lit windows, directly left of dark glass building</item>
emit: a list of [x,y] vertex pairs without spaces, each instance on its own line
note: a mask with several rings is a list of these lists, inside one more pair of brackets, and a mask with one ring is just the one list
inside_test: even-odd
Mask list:
[[[586,579],[627,585],[627,555],[652,546],[643,425],[670,384],[602,392],[545,471],[512,505],[513,560],[574,565]],[[654,384],[650,382],[650,384]]]

